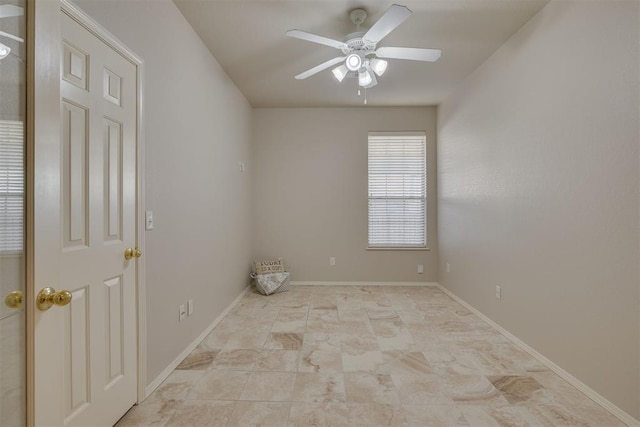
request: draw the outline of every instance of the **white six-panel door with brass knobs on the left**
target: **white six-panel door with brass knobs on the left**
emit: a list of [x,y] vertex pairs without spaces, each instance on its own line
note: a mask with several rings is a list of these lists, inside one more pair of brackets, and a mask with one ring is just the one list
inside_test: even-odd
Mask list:
[[59,197],[36,195],[34,236],[36,273],[46,257],[59,272],[35,284],[72,300],[36,310],[35,419],[110,426],[137,398],[137,259],[124,256],[136,246],[137,66],[90,23],[58,14],[59,158],[37,155],[36,131],[35,166],[36,181],[58,171]]

